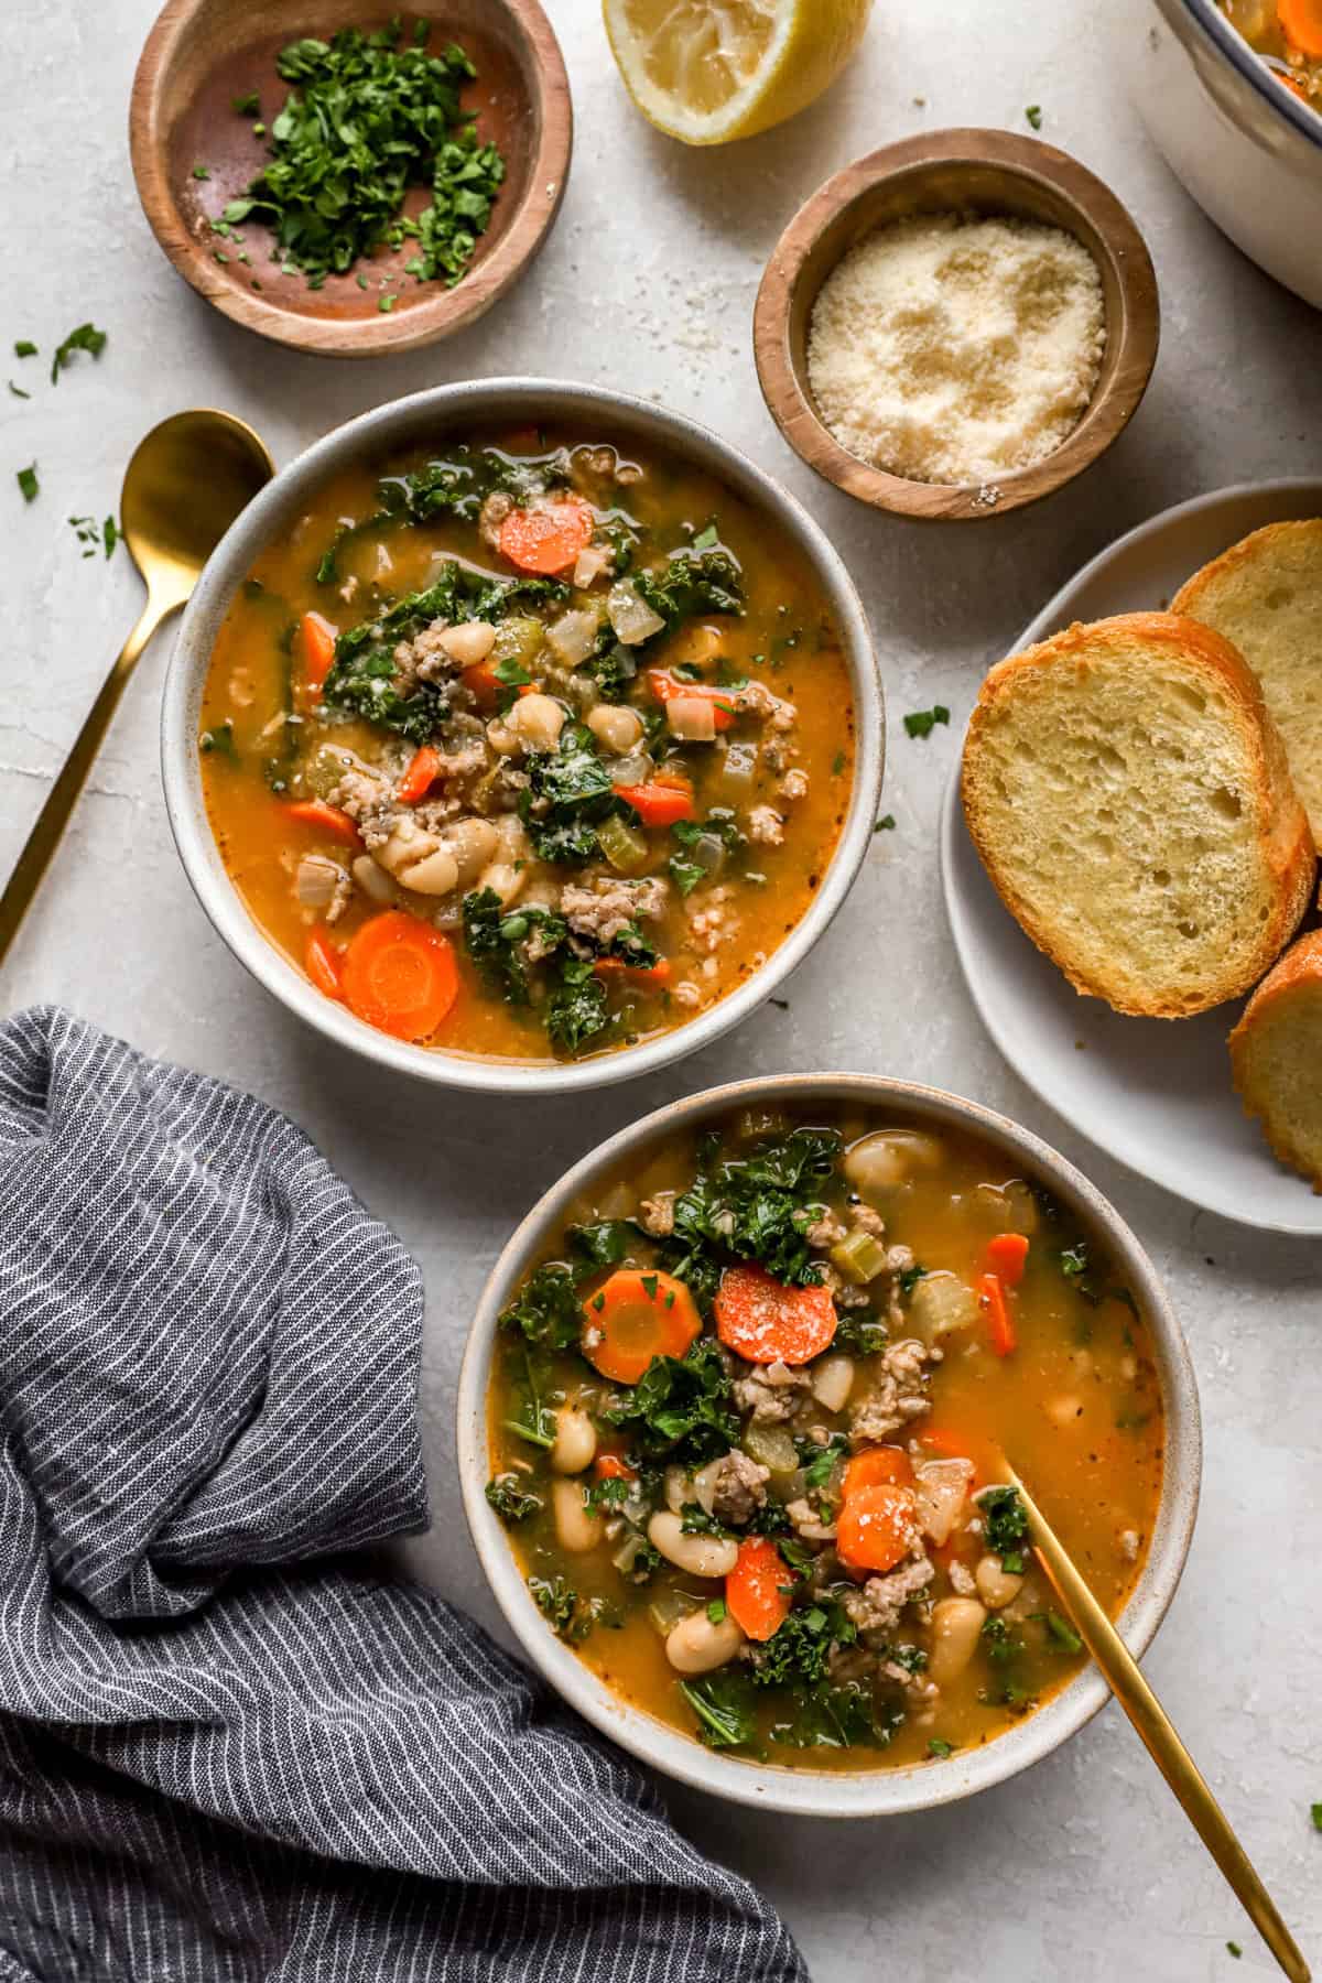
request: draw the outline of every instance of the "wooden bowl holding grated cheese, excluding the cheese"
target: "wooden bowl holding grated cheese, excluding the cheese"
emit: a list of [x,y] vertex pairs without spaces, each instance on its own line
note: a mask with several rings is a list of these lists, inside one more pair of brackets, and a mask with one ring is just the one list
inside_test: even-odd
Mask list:
[[[809,323],[823,282],[866,234],[924,212],[1047,220],[1074,234],[1102,274],[1106,353],[1088,410],[1054,454],[997,476],[993,488],[910,482],[872,468],[834,440],[809,385]],[[753,317],[763,399],[791,448],[848,496],[914,518],[1005,516],[1070,482],[1130,420],[1157,337],[1152,256],[1120,200],[1076,159],[1007,131],[934,131],[836,173],[781,234]]]

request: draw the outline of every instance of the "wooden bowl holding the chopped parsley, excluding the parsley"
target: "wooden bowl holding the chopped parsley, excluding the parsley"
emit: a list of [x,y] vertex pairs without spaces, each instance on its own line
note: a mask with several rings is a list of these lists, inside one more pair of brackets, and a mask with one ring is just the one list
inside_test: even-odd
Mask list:
[[[464,107],[478,111],[480,139],[494,139],[505,155],[492,224],[454,290],[402,276],[412,242],[309,290],[301,270],[281,276],[270,228],[244,222],[246,264],[210,230],[268,159],[254,119],[238,115],[234,99],[256,89],[270,125],[289,89],[275,71],[287,42],[385,26],[386,16],[363,0],[168,0],[161,12],[133,79],[133,175],[170,262],[226,317],[295,351],[355,359],[416,351],[474,323],[541,248],[561,206],[573,143],[569,77],[547,16],[537,0],[414,0],[408,22],[418,16],[436,22],[432,48],[458,42],[472,56],[478,79],[464,89]],[[210,176],[196,178],[196,165]],[[404,210],[418,212],[428,198],[416,186]],[[228,260],[218,262],[216,250]],[[359,274],[369,288],[359,286]],[[381,309],[386,282],[398,292],[388,313]]]

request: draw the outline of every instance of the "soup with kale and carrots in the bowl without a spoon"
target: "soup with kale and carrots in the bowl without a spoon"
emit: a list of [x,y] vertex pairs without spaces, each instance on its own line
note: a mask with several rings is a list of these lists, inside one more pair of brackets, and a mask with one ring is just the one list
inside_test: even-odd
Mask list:
[[492,432],[339,476],[240,589],[206,805],[262,930],[402,1039],[569,1059],[807,912],[854,714],[805,559],[650,446]]

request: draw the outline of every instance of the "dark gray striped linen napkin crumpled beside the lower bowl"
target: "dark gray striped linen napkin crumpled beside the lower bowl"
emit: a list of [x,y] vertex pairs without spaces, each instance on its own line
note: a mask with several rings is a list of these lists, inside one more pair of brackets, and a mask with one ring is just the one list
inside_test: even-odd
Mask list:
[[[422,1287],[283,1116],[0,1027],[0,1983],[807,1979],[470,1618]],[[347,1551],[357,1549],[357,1555]]]

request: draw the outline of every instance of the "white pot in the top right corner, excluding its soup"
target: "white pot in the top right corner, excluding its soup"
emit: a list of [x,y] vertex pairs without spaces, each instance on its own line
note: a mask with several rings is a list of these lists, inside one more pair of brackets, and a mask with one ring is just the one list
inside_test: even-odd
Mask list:
[[1116,58],[1157,151],[1268,276],[1322,309],[1322,117],[1215,0],[1124,0]]

